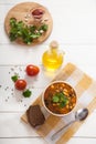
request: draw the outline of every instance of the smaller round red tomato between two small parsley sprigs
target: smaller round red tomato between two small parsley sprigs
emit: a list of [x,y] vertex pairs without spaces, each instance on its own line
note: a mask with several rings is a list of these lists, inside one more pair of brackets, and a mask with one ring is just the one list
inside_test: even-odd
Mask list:
[[24,80],[17,80],[14,85],[17,90],[24,90],[26,88],[26,82]]

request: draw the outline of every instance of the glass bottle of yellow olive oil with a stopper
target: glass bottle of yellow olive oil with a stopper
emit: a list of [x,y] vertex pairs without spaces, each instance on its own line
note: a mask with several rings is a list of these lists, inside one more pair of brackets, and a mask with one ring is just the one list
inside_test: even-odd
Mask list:
[[63,63],[63,51],[60,51],[58,43],[52,41],[50,43],[50,49],[46,50],[42,55],[42,63],[44,68],[49,71],[55,71]]

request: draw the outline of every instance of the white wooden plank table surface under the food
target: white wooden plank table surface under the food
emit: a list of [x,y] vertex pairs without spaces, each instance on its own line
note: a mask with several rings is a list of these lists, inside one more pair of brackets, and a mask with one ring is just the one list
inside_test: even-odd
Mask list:
[[[10,43],[4,32],[4,17],[19,2],[25,0],[0,0],[0,144],[45,144],[31,126],[21,122],[20,116],[29,104],[43,91],[54,74],[42,70],[42,53],[52,40],[57,40],[65,51],[64,65],[73,62],[96,80],[96,0],[35,0],[45,6],[53,17],[51,37],[34,48]],[[29,0],[31,1],[31,0]],[[36,64],[41,72],[33,81],[31,99],[12,95],[13,83],[10,80],[12,68],[22,70],[29,63]],[[11,72],[11,74],[10,74]],[[21,72],[21,76],[24,76]],[[31,84],[31,80],[29,80]],[[71,138],[68,144],[96,144],[96,110],[84,125]]]

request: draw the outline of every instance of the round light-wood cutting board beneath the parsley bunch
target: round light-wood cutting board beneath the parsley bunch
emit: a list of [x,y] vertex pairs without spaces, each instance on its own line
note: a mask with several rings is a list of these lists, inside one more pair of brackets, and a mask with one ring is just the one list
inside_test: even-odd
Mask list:
[[[6,20],[4,20],[4,29],[7,34],[9,35],[10,32],[10,18],[15,18],[18,21],[23,21],[25,24],[29,23],[29,21],[32,21],[32,17],[29,18],[29,21],[25,22],[25,16],[26,14],[31,14],[31,11],[33,9],[40,8],[42,10],[44,10],[44,14],[43,14],[43,20],[47,19],[44,23],[46,23],[49,25],[47,31],[42,34],[38,40],[33,41],[31,45],[35,45],[39,43],[42,43],[43,41],[45,41],[51,32],[52,32],[52,28],[53,28],[53,20],[52,17],[49,12],[49,10],[35,2],[23,2],[23,3],[19,3],[17,6],[14,6],[7,14]],[[15,42],[18,42],[19,44],[25,44],[22,40],[17,40]]]

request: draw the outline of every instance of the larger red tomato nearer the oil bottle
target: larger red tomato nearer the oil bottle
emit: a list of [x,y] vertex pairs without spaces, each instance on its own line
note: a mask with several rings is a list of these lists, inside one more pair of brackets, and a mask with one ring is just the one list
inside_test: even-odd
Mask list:
[[36,65],[30,64],[30,65],[26,66],[25,71],[26,71],[28,75],[34,76],[40,72],[40,69]]

